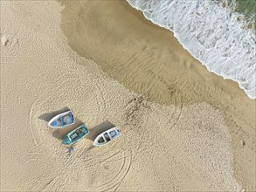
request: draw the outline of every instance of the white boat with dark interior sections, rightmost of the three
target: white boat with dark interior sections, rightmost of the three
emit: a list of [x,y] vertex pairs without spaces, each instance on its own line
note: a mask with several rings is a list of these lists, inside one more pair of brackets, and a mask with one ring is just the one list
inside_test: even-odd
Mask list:
[[110,128],[96,137],[93,142],[93,146],[104,146],[110,141],[116,139],[118,136],[120,136],[120,130],[118,130],[116,127]]

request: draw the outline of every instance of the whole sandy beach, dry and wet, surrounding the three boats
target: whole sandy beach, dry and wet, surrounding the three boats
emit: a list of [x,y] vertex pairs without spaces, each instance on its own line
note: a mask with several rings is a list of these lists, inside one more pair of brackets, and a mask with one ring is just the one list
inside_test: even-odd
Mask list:
[[[69,46],[70,45],[70,46]],[[73,110],[73,154],[47,120]],[[112,126],[106,147],[93,138]],[[124,1],[1,2],[1,191],[255,190],[255,99]]]

